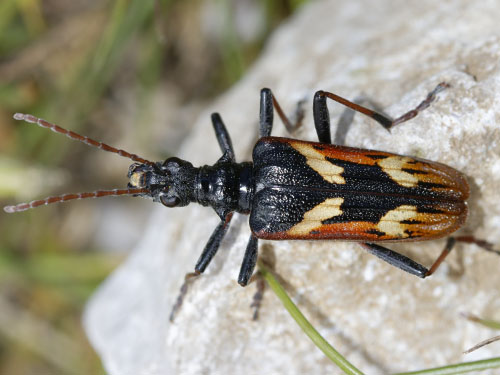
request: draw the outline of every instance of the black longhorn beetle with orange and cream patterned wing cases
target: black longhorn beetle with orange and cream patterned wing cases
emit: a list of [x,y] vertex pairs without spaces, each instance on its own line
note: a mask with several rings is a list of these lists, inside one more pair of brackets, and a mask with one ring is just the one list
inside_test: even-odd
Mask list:
[[425,278],[438,268],[457,240],[495,250],[491,244],[472,236],[450,238],[427,269],[375,242],[424,241],[456,231],[467,217],[469,185],[465,176],[437,162],[332,145],[326,99],[361,112],[389,130],[427,108],[446,87],[449,85],[440,83],[415,109],[395,120],[333,93],[318,91],[313,102],[318,143],[272,137],[274,108],[290,132],[296,126],[284,115],[271,90],[262,89],[260,139],[253,149],[253,161],[236,162],[229,133],[219,114],[214,113],[212,124],[222,157],[213,166],[199,168],[176,157],[151,162],[32,115],[18,113],[14,115],[16,120],[38,124],[135,163],[128,170],[127,189],[65,194],[6,206],[4,210],[12,213],[108,195],[152,198],[167,207],[196,202],[211,206],[221,219],[196,264],[196,274],[205,271],[229,228],[233,212],[238,212],[250,215],[252,231],[238,276],[242,286],[248,284],[255,268],[258,238],[358,241],[389,264]]

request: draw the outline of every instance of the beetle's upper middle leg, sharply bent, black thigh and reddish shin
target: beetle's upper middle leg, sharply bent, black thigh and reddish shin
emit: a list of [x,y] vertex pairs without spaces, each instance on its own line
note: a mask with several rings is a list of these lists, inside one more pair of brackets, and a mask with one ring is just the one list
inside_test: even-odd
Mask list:
[[274,111],[278,112],[278,116],[285,125],[286,130],[289,133],[293,133],[302,124],[302,119],[304,117],[304,111],[302,109],[303,102],[297,104],[297,110],[295,113],[294,121],[290,121],[286,117],[285,112],[281,109],[280,104],[274,97],[270,89],[262,89],[260,91],[260,136],[269,137],[273,129],[273,116]]

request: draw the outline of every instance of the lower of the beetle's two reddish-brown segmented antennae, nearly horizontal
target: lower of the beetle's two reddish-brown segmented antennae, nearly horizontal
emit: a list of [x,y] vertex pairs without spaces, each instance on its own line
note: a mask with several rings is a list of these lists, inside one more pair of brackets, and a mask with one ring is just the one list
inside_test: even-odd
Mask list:
[[31,201],[29,203],[20,203],[16,204],[15,206],[5,206],[3,210],[11,214],[14,212],[26,211],[29,210],[30,208],[36,208],[38,206],[44,206],[51,203],[67,202],[75,199],[100,198],[107,196],[133,195],[133,194],[151,194],[151,191],[149,189],[113,189],[113,190],[97,190],[92,193],[63,194],[55,197],[48,197],[45,199]]

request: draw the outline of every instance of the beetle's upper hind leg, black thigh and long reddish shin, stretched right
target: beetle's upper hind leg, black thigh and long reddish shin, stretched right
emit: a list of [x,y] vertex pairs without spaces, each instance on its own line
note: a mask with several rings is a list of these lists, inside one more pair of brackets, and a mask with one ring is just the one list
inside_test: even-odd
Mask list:
[[389,118],[386,115],[383,115],[379,112],[373,111],[366,107],[363,107],[357,103],[351,102],[347,99],[342,98],[341,96],[335,95],[331,92],[327,91],[318,91],[314,95],[314,104],[313,104],[313,112],[314,112],[314,125],[316,126],[316,132],[318,133],[318,138],[322,143],[331,143],[328,142],[330,140],[330,118],[328,114],[328,108],[326,105],[326,98],[332,99],[340,104],[345,105],[346,107],[351,108],[356,112],[363,113],[364,115],[374,119],[379,124],[381,124],[385,129],[390,130],[393,126],[401,124],[405,121],[408,121],[415,116],[418,115],[419,112],[423,111],[434,101],[436,95],[443,91],[445,88],[450,87],[450,85],[446,82],[441,82],[436,86],[434,90],[432,90],[427,97],[414,109],[406,112],[402,116],[399,116],[395,120]]

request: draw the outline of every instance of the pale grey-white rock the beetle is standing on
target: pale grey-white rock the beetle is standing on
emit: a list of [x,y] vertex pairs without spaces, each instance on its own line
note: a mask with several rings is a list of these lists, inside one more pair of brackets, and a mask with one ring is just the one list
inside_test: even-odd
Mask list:
[[[365,95],[397,116],[437,83],[452,87],[389,134],[356,115],[350,146],[409,154],[464,172],[472,195],[461,234],[500,243],[500,5],[431,0],[321,1],[305,6],[270,40],[247,76],[200,117],[179,157],[211,164],[220,150],[209,113],[221,113],[238,160],[258,133],[259,90],[271,87],[288,113],[306,100],[294,136],[315,140],[311,103],[324,89]],[[335,124],[343,108],[329,103]],[[333,130],[335,132],[335,130]],[[274,135],[286,135],[279,120]],[[217,225],[208,208],[157,205],[129,259],[89,302],[85,327],[113,375],[304,374],[338,370],[268,291],[251,320],[255,286],[236,283],[249,236],[237,215],[219,254],[195,282],[173,324],[171,307]],[[392,248],[430,265],[444,240]],[[431,278],[420,280],[345,242],[261,242],[276,272],[316,328],[367,374],[417,370],[493,357],[498,343],[462,351],[496,333],[460,312],[500,320],[500,257],[459,245]]]

